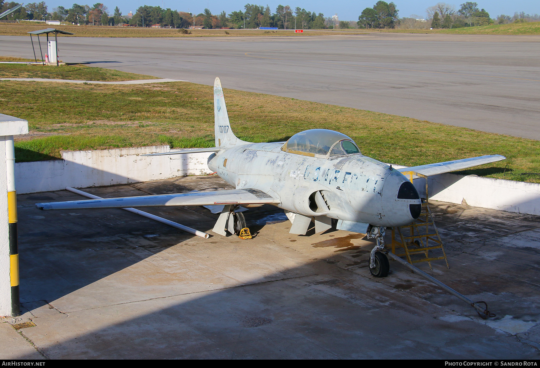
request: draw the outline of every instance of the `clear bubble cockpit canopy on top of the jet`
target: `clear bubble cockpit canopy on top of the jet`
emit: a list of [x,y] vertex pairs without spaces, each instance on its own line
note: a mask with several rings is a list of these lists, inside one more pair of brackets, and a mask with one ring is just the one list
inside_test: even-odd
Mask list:
[[317,158],[338,158],[360,153],[347,135],[328,129],[310,129],[294,134],[282,151]]

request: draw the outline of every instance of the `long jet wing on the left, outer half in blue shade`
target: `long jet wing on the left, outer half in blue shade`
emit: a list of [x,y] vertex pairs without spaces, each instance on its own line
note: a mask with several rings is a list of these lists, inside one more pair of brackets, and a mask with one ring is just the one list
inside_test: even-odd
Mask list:
[[208,206],[208,205],[250,205],[260,203],[280,203],[258,189],[228,189],[212,192],[190,192],[177,194],[143,195],[90,199],[83,201],[36,203],[39,209],[85,209],[85,208],[126,208],[157,206]]

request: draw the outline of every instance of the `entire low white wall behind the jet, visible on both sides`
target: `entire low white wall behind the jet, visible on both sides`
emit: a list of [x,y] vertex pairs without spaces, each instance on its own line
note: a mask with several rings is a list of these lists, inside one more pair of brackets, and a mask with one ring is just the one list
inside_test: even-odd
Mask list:
[[[69,151],[62,152],[63,160],[19,162],[15,165],[17,193],[210,174],[207,166],[210,153],[141,156],[170,151],[169,146]],[[414,183],[419,193],[424,194],[426,181],[415,179]],[[540,215],[540,184],[441,174],[431,176],[428,186],[430,199],[436,201],[462,203],[465,200],[469,206]]]

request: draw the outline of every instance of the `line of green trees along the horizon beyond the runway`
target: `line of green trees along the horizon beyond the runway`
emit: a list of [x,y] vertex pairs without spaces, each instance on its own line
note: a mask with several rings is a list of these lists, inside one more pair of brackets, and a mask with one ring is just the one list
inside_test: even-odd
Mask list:
[[[0,0],[0,12],[14,8],[18,3]],[[357,22],[340,21],[339,28],[460,28],[488,24],[507,24],[519,22],[538,22],[540,16],[529,15],[524,12],[514,13],[514,16],[499,15],[492,19],[487,11],[479,9],[475,2],[465,2],[455,9],[454,5],[437,3],[426,9],[427,18],[417,15],[399,18],[399,10],[393,2],[377,1],[372,8],[366,8],[358,17]],[[55,21],[70,22],[73,24],[91,25],[122,25],[149,27],[155,24],[170,28],[188,28],[189,26],[203,26],[204,28],[234,28],[254,29],[260,27],[274,27],[278,29],[332,29],[334,20],[325,17],[323,13],[306,11],[289,5],[278,5],[274,12],[268,5],[246,4],[244,9],[226,13],[213,14],[210,9],[195,15],[193,13],[161,9],[159,6],[140,6],[132,17],[122,15],[118,6],[112,14],[102,3],[92,6],[73,4],[69,9],[57,6],[48,11],[45,2],[29,3],[22,6],[9,16],[10,19],[51,19]],[[338,27],[338,24],[335,24]]]

